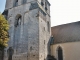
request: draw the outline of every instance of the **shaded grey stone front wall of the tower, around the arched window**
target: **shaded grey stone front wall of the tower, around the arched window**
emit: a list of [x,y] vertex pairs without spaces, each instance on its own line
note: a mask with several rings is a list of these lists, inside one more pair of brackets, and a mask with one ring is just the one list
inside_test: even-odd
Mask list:
[[[13,60],[39,59],[39,20],[38,9],[29,10],[31,3],[9,9],[8,21],[10,24],[9,47],[13,47]],[[15,18],[21,15],[21,25],[15,30]],[[20,30],[20,32],[19,32]],[[20,37],[19,37],[20,36]],[[16,39],[15,39],[16,38]]]

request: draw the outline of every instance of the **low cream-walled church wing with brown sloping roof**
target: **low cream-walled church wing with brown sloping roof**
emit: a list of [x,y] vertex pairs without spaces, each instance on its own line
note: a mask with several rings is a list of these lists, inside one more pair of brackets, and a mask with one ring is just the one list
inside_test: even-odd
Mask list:
[[51,28],[51,56],[57,60],[80,60],[80,21]]

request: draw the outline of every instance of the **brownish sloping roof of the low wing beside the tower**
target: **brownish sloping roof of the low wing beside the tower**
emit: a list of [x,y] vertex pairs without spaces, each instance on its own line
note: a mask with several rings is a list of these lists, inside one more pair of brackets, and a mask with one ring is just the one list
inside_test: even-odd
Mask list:
[[80,21],[51,28],[54,39],[51,44],[80,41]]

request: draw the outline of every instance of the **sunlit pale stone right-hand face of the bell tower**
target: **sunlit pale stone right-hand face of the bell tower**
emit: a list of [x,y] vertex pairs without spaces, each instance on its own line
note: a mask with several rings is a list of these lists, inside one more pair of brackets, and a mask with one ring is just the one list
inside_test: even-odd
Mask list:
[[[44,15],[44,14],[40,14]],[[49,28],[47,22],[50,23],[50,17],[46,14],[46,16],[39,16],[39,59],[47,60],[48,55],[48,41],[51,34],[51,29]],[[50,26],[50,25],[49,25]]]

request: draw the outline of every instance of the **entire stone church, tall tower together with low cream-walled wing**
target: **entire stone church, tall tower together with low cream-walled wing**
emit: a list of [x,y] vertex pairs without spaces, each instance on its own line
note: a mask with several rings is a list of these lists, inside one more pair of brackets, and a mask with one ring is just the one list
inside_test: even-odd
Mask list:
[[6,0],[9,46],[4,60],[80,60],[80,22],[51,28],[48,0]]

